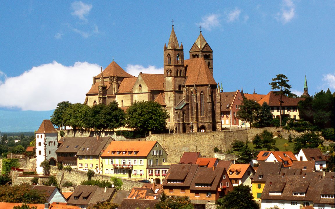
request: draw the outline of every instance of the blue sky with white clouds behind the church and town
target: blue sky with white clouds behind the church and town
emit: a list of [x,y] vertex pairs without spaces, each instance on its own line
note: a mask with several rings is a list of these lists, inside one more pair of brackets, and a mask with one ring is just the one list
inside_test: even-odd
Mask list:
[[162,73],[172,19],[185,59],[202,34],[224,91],[335,89],[335,1],[0,1],[0,131],[34,131],[61,101],[83,102],[113,58]]

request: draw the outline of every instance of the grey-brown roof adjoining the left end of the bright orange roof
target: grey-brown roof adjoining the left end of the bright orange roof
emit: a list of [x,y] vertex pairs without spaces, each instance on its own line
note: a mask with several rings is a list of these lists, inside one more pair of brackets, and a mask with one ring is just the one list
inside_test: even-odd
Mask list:
[[77,155],[100,155],[114,139],[106,137],[88,137],[77,151]]

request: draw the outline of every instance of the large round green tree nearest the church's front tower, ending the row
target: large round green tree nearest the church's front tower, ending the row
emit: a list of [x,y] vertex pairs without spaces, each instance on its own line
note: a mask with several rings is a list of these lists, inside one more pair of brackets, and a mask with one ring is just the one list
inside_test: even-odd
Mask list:
[[162,131],[167,118],[169,113],[157,102],[136,101],[127,109],[126,124],[141,133]]

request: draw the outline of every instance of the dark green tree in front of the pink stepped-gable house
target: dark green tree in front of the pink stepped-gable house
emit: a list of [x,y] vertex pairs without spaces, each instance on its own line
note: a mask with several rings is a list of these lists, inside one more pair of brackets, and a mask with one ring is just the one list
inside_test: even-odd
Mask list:
[[251,125],[258,121],[258,114],[261,109],[261,105],[255,100],[245,99],[240,106],[240,110],[237,112],[238,118],[245,120]]

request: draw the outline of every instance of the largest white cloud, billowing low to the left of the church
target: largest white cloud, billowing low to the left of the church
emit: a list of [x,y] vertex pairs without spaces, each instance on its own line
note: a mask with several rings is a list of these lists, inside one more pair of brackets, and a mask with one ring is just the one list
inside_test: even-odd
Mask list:
[[92,76],[99,72],[100,66],[87,62],[63,66],[54,61],[33,67],[0,83],[0,107],[44,111],[55,109],[62,101],[82,103]]

